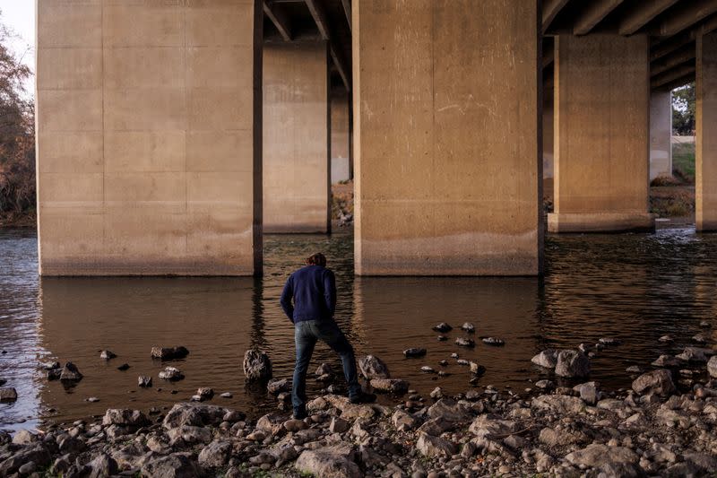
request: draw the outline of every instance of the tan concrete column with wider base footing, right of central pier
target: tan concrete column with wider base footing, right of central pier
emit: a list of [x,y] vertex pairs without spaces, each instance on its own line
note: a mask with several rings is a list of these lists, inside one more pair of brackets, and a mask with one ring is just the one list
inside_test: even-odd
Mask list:
[[556,38],[552,232],[652,227],[645,35]]

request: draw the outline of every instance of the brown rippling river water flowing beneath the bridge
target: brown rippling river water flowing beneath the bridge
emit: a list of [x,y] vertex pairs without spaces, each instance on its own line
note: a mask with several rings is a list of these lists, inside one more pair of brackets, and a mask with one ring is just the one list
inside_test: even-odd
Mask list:
[[[700,327],[717,318],[717,235],[687,229],[549,236],[543,278],[354,277],[352,239],[345,231],[266,236],[263,279],[40,279],[34,231],[0,230],[0,378],[20,395],[13,404],[0,404],[0,430],[67,422],[109,407],[169,406],[197,387],[233,394],[215,396],[214,404],[253,415],[272,410],[272,399],[245,386],[241,361],[257,346],[271,356],[275,377],[290,377],[293,330],[278,299],[288,274],[317,250],[336,273],[336,320],[358,354],[381,357],[393,377],[425,396],[436,386],[449,394],[470,387],[468,369],[450,360],[452,352],[488,369],[479,387],[523,392],[531,387],[528,379],[547,377],[531,365],[536,352],[614,337],[622,344],[600,352],[591,378],[616,389],[630,384],[626,367],[679,352],[698,332],[717,338],[712,328]],[[442,321],[456,327],[447,342],[438,342],[431,330]],[[477,328],[474,349],[454,344],[465,335],[457,328],[466,321]],[[677,341],[659,343],[665,334]],[[488,335],[504,339],[505,346],[480,343]],[[154,345],[189,349],[185,360],[174,363],[184,380],[157,378],[162,364],[150,358]],[[428,354],[405,359],[402,351],[409,347],[425,347]],[[102,349],[117,358],[100,360]],[[450,365],[442,368],[444,359]],[[73,361],[84,378],[71,388],[48,382],[38,369],[47,360]],[[312,369],[322,361],[341,370],[320,344]],[[123,363],[130,369],[118,370]],[[450,375],[422,373],[422,365]],[[150,375],[154,387],[138,388],[138,375]],[[320,392],[313,378],[308,382],[311,394]],[[91,396],[99,402],[87,402]]]

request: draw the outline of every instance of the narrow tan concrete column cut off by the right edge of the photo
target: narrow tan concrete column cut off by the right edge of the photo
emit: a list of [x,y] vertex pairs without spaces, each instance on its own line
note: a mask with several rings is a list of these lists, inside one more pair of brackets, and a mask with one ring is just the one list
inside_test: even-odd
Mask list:
[[717,32],[697,38],[695,222],[717,230]]

